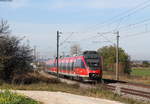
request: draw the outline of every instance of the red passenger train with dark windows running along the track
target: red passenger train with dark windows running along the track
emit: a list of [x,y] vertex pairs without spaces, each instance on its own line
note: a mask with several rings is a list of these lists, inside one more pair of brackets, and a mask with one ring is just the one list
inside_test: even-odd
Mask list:
[[[46,62],[47,72],[56,74],[56,59]],[[100,80],[102,78],[101,58],[96,51],[85,51],[81,56],[59,59],[59,75],[78,80]]]

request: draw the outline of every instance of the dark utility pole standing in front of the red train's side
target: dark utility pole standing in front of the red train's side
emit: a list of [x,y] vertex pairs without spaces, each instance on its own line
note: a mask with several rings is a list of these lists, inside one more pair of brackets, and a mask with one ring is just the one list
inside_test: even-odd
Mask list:
[[57,59],[57,79],[59,79],[59,63],[58,63],[58,61],[59,61],[59,37],[60,37],[59,34],[61,34],[61,32],[57,31],[57,57],[56,57],[56,59]]

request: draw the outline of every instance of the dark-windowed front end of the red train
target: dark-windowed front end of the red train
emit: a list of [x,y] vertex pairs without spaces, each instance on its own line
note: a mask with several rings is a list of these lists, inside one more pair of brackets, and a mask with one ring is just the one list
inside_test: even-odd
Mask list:
[[83,53],[90,80],[101,80],[102,62],[96,51],[85,51]]

